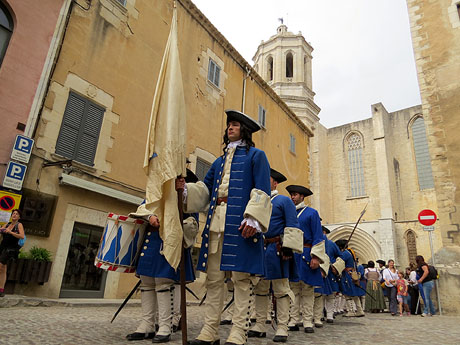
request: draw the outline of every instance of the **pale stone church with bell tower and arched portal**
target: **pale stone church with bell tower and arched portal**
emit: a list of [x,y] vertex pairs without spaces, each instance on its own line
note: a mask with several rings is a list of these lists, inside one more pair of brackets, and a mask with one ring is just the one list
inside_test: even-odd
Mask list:
[[[393,258],[405,267],[417,253],[430,253],[417,214],[436,208],[421,107],[389,113],[379,103],[371,106],[370,119],[325,128],[314,103],[312,51],[301,33],[281,25],[253,59],[254,68],[314,132],[310,202],[332,240],[348,238],[367,205],[351,246],[361,262]],[[440,248],[441,238],[435,235],[434,243]]]

